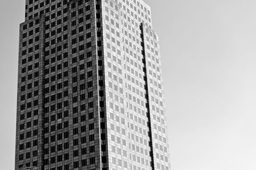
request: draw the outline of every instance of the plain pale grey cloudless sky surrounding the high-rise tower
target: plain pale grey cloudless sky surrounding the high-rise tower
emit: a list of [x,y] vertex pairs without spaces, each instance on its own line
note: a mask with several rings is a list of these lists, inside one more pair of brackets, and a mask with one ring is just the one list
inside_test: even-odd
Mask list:
[[[145,0],[159,34],[172,170],[256,169],[256,1]],[[19,24],[0,1],[0,169],[14,169]]]

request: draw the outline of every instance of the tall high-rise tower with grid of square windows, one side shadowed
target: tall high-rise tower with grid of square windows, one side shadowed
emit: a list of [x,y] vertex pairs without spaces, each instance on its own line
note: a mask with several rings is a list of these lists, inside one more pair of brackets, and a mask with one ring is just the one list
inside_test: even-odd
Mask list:
[[15,169],[170,169],[159,43],[141,0],[26,0]]

